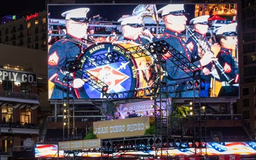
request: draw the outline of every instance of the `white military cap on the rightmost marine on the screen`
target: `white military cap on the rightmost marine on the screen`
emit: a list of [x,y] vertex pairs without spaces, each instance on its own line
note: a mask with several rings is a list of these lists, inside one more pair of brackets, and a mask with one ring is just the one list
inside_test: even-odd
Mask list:
[[225,35],[225,36],[237,36],[237,26],[238,23],[230,23],[213,30],[215,35]]

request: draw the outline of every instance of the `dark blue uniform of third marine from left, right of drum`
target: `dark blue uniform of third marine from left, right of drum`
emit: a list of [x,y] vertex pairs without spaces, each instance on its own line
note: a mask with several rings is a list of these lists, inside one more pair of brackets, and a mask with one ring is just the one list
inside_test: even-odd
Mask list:
[[[169,50],[177,50],[178,53],[183,55],[185,58],[183,59],[183,62],[186,64],[191,64],[191,52],[186,47],[186,42],[183,41],[181,38],[181,33],[177,33],[175,31],[166,30],[166,33],[159,38],[160,41],[164,40],[167,43],[169,43],[170,48]],[[175,52],[172,54],[176,54]],[[171,55],[164,55],[167,58]],[[193,74],[193,72],[200,71],[202,69],[201,63],[199,61],[193,62],[192,68],[178,68],[177,65],[182,66],[183,64],[181,62],[176,61],[175,63],[171,62],[171,60],[166,60],[166,72],[167,72],[167,85],[181,83],[181,82],[187,82],[193,80],[193,78],[190,77],[190,75]],[[165,68],[163,66],[163,68]],[[192,70],[191,70],[192,69]],[[188,75],[189,73],[189,75]],[[186,85],[180,85],[178,90],[186,90]],[[193,90],[185,91],[185,92],[177,92],[175,94],[171,94],[172,97],[193,97],[198,96],[198,94],[194,94]]]

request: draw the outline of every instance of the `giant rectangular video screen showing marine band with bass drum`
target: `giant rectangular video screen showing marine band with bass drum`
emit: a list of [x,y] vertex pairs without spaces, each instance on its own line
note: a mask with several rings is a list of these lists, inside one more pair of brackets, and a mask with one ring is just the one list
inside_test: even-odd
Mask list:
[[49,4],[48,98],[238,97],[236,17],[237,4]]

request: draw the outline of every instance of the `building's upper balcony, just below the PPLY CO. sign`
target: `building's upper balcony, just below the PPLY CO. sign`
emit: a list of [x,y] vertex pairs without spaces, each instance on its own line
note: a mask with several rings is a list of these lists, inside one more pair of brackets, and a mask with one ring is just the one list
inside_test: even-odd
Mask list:
[[6,92],[0,91],[0,101],[26,102],[39,104],[39,96],[36,94],[28,94],[23,92]]

